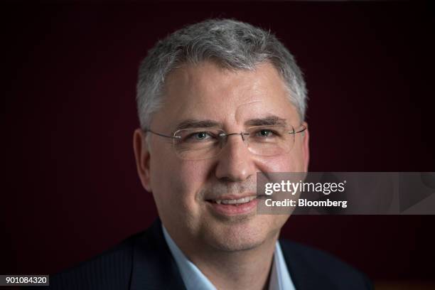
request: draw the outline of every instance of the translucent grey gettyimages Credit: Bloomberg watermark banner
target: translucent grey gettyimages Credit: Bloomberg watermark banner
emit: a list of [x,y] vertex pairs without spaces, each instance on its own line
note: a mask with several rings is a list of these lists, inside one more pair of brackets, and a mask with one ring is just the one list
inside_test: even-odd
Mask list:
[[257,173],[258,214],[434,215],[433,172]]

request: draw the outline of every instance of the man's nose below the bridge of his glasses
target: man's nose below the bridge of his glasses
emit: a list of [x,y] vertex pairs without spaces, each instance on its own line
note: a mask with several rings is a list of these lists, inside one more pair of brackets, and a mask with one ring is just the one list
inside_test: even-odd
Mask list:
[[241,134],[227,136],[227,144],[218,156],[216,177],[227,181],[245,181],[255,174],[252,154]]

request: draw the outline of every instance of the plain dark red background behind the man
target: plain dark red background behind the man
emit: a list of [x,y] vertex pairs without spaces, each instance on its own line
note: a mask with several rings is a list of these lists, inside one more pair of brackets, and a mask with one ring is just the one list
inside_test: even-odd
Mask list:
[[[46,274],[156,217],[136,176],[136,70],[208,17],[270,28],[306,75],[311,171],[435,171],[426,4],[237,2],[1,7],[0,274]],[[435,216],[294,216],[284,237],[372,279],[434,279]]]

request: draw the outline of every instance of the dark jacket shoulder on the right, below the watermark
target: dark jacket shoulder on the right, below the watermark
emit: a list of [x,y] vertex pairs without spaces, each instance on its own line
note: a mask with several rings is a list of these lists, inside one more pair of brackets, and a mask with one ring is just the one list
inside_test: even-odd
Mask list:
[[315,289],[315,285],[322,289],[373,289],[365,274],[331,254],[288,240],[279,240],[279,244],[291,278],[300,289]]

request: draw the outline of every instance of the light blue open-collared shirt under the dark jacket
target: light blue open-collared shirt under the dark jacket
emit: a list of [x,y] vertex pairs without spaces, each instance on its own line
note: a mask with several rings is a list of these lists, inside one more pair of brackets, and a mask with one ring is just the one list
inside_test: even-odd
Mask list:
[[[173,242],[171,236],[166,231],[163,224],[163,235],[171,250],[173,258],[176,260],[178,269],[181,273],[186,289],[188,290],[216,290],[216,287],[210,282],[210,280],[200,272],[200,269],[190,262],[186,256],[181,252],[175,242]],[[272,264],[272,272],[270,274],[269,290],[295,290],[293,281],[287,269],[284,256],[279,246],[279,242],[276,242],[274,261]]]

